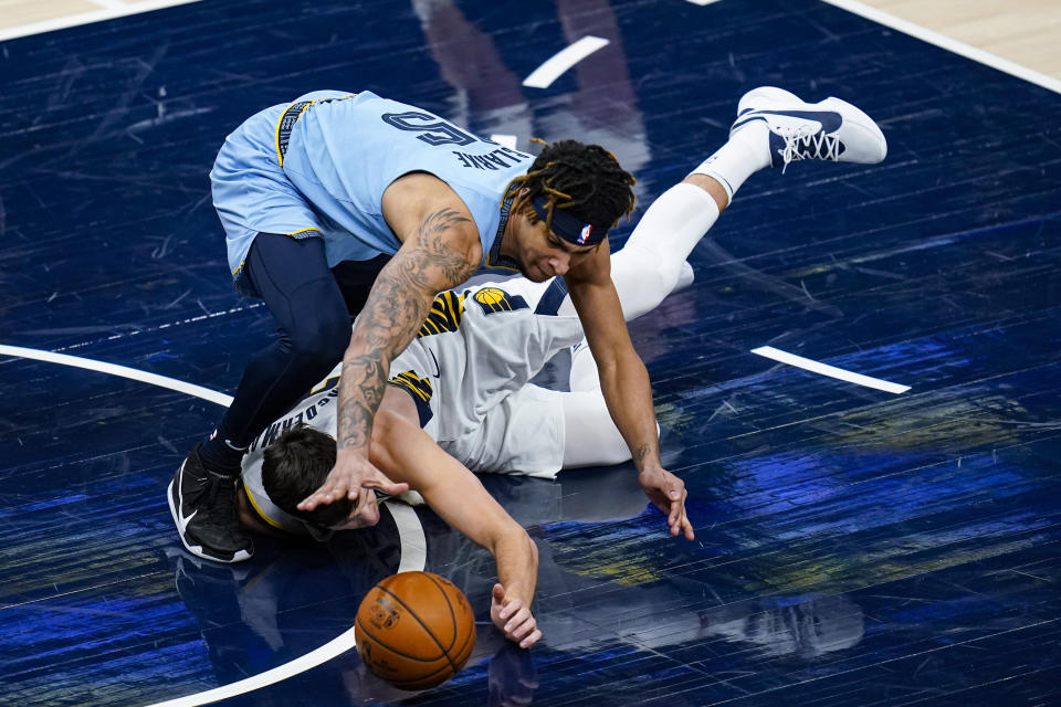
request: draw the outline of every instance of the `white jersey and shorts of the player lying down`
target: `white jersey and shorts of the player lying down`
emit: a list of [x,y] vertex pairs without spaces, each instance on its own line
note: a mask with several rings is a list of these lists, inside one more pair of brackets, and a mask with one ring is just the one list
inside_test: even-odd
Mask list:
[[[423,430],[473,472],[553,478],[563,466],[561,393],[528,381],[584,333],[577,317],[536,314],[543,292],[523,278],[444,292],[390,365],[390,383],[412,397]],[[288,532],[305,535],[305,524],[269,500],[262,451],[298,423],[336,434],[338,370],[259,435],[243,457],[243,484],[255,510]]]

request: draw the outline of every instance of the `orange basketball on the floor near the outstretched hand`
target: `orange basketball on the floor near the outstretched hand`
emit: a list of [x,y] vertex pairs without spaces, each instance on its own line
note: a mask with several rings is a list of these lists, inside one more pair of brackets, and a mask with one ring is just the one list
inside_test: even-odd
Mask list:
[[401,689],[428,689],[456,675],[475,645],[475,618],[464,593],[431,572],[392,574],[357,609],[361,661]]

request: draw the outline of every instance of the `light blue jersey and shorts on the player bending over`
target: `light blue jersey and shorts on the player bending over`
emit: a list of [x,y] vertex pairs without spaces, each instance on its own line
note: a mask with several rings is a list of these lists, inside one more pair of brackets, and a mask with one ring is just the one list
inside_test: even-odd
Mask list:
[[[533,157],[370,92],[318,91],[252,116],[230,135],[210,173],[237,287],[258,233],[319,236],[328,265],[392,254],[401,243],[382,215],[384,191],[410,172],[447,182],[496,252],[507,221],[506,188]],[[510,264],[511,265],[511,264]]]

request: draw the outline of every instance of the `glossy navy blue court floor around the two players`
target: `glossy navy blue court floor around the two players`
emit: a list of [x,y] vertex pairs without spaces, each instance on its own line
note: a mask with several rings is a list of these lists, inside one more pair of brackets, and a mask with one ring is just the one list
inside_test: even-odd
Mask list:
[[[610,44],[519,85],[587,34]],[[421,509],[428,569],[479,612],[470,666],[410,695],[349,652],[225,705],[1061,704],[1057,94],[810,0],[207,0],[2,49],[0,344],[225,392],[272,327],[232,291],[207,173],[267,105],[372,89],[524,149],[599,141],[642,210],[757,85],[844,97],[887,136],[880,166],[754,177],[694,285],[632,326],[695,541],[630,466],[487,478],[540,549],[539,646],[490,627],[492,562]],[[165,488],[217,404],[13,357],[0,386],[4,704],[246,678],[345,632],[397,568],[387,514],[193,561]]]

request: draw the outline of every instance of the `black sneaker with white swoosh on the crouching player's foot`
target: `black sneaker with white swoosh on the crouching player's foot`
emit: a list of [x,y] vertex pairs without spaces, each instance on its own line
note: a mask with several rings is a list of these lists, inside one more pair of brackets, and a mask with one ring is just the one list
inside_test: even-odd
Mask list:
[[203,466],[199,445],[169,484],[169,510],[189,552],[214,562],[242,562],[254,555],[254,541],[240,525],[237,476]]

